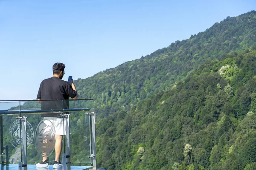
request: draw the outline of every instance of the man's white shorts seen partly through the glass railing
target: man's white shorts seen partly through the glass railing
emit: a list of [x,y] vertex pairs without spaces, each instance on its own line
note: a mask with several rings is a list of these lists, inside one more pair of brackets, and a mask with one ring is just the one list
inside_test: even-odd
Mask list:
[[[52,125],[55,128],[55,135],[63,135],[63,132],[64,132],[64,135],[66,135],[66,121],[64,121],[64,127],[63,127],[63,118],[44,117],[44,120],[49,120],[50,122],[52,122]],[[44,121],[46,125],[47,125],[47,122],[48,121]]]

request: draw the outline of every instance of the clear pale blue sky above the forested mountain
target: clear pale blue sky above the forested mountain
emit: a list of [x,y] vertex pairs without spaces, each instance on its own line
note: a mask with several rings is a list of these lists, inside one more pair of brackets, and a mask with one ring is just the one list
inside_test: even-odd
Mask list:
[[151,54],[255,0],[0,0],[0,100],[35,99],[52,65],[64,80]]

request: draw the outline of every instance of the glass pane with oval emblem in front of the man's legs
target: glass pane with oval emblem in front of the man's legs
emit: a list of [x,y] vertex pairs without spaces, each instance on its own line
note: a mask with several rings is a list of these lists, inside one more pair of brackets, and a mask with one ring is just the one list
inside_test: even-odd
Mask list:
[[[21,116],[27,117],[27,159],[28,164],[37,164],[47,157],[49,164],[55,161],[55,127],[52,116],[61,115],[63,109],[62,100],[46,101],[23,101],[21,102],[21,111],[42,111],[39,113],[23,113]],[[58,113],[45,113],[45,110],[59,110]],[[46,118],[50,117],[50,118]],[[62,118],[58,118],[62,119]],[[62,120],[63,121],[63,120]],[[64,129],[59,129],[63,134]],[[62,151],[64,153],[64,151]],[[62,162],[62,155],[60,156]]]

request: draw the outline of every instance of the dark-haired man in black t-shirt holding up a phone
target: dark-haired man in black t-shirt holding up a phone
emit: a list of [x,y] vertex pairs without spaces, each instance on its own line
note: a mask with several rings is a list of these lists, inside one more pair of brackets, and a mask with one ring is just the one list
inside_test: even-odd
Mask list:
[[[68,108],[69,97],[77,99],[76,87],[71,82],[61,80],[65,74],[65,65],[57,62],[52,66],[53,77],[44,79],[41,82],[38,90],[37,99],[41,103],[41,110],[48,109],[66,109]],[[57,101],[44,101],[44,100],[57,100]],[[64,101],[63,101],[64,100]],[[67,101],[65,101],[67,100]],[[61,168],[60,162],[62,138],[64,135],[64,122],[60,118],[59,113],[45,113],[41,114],[44,120],[49,120],[55,127],[55,161],[53,168]],[[36,164],[36,167],[49,167],[47,157],[43,157],[41,163]]]

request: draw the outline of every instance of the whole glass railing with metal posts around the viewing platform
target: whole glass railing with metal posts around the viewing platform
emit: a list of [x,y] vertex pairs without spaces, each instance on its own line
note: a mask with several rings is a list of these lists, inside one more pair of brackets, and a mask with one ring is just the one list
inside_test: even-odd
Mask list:
[[0,101],[0,123],[2,167],[35,169],[44,157],[51,168],[61,141],[63,170],[96,170],[93,100]]

